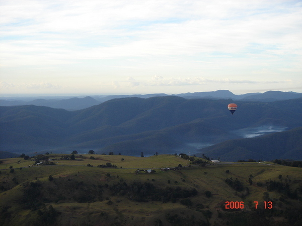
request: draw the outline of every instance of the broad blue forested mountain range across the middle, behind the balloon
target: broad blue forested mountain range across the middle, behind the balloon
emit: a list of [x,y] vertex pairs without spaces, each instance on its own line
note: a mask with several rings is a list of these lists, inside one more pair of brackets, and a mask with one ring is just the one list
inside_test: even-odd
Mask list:
[[[236,100],[238,109],[233,116],[227,108],[230,102],[234,100],[159,96],[111,99],[74,111],[35,105],[1,106],[0,150],[20,154],[94,150],[133,156],[141,152],[211,155],[200,148],[248,137],[249,129],[270,128],[268,133],[274,133],[302,127],[302,98]],[[222,160],[223,153],[213,151],[212,156]],[[292,150],[291,157],[301,159],[300,150]],[[233,156],[232,160],[237,158]]]

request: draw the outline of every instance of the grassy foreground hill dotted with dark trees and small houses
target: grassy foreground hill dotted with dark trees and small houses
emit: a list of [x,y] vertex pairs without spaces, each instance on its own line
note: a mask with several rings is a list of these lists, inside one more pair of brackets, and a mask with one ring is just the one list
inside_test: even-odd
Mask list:
[[[192,164],[175,155],[75,155],[75,160],[62,156],[66,155],[48,155],[55,165],[32,166],[35,161],[23,158],[0,160],[0,225],[302,222],[302,168],[268,162],[200,164],[206,161],[197,157],[199,162]],[[180,169],[172,169],[179,164]],[[147,169],[154,171],[143,171]],[[225,209],[226,201],[244,206]],[[265,208],[264,201],[272,208]]]

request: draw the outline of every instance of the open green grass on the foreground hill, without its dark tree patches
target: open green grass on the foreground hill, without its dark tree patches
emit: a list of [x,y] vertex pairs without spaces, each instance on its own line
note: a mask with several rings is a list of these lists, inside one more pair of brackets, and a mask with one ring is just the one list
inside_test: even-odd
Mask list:
[[[95,159],[90,159],[93,156]],[[122,155],[75,155],[76,160],[60,160],[61,155],[49,155],[56,165],[31,166],[34,162],[22,158],[2,159],[0,164],[0,186],[3,189],[0,192],[0,206],[12,206],[11,211],[16,212],[18,217],[14,217],[12,223],[32,222],[36,213],[22,208],[19,200],[24,193],[24,185],[30,182],[39,182],[41,191],[46,196],[51,192],[70,189],[70,184],[83,182],[87,189],[94,190],[95,187],[113,186],[126,182],[130,185],[134,182],[152,183],[158,188],[181,188],[192,190],[195,188],[198,195],[190,197],[192,206],[187,207],[177,201],[163,203],[161,201],[137,202],[129,200],[127,196],[111,195],[109,189],[104,189],[103,200],[93,202],[73,202],[72,197],[75,193],[64,193],[64,200],[45,203],[47,209],[52,205],[62,214],[58,216],[58,221],[62,225],[84,225],[89,220],[96,222],[103,219],[109,225],[115,223],[114,219],[119,219],[123,225],[154,225],[158,219],[166,219],[167,213],[178,214],[185,217],[186,214],[198,217],[206,221],[206,218],[200,214],[200,211],[210,210],[213,217],[210,222],[213,223],[218,217],[215,209],[221,208],[225,201],[244,201],[245,210],[253,208],[253,202],[263,202],[263,194],[267,191],[265,183],[269,180],[290,182],[291,189],[300,189],[302,181],[302,168],[281,166],[271,163],[227,163],[227,164],[207,164],[205,167],[199,165],[190,165],[190,162],[174,155],[159,155],[146,158],[122,156]],[[123,161],[121,159],[124,159]],[[18,163],[19,162],[19,163]],[[105,165],[110,162],[117,168],[101,168],[98,165]],[[93,165],[89,167],[87,164]],[[164,167],[176,167],[179,164],[183,167],[181,170],[163,171]],[[15,169],[11,172],[10,166]],[[20,169],[22,167],[22,169]],[[24,168],[23,168],[24,167]],[[122,167],[122,168],[121,168]],[[154,169],[155,173],[137,172],[137,169]],[[226,173],[226,171],[229,173]],[[49,176],[54,181],[49,181]],[[282,175],[281,178],[279,175]],[[249,183],[251,177],[253,184]],[[249,189],[250,194],[242,198],[246,191],[237,192],[225,183],[226,178],[236,178],[242,185]],[[70,181],[70,182],[69,182]],[[258,186],[262,183],[263,186]],[[205,192],[211,192],[207,197]],[[274,205],[280,205],[280,193],[269,192],[269,196],[274,200]],[[108,204],[111,201],[112,204]],[[222,203],[222,204],[221,204]],[[282,203],[281,203],[282,204]],[[202,207],[198,207],[202,206]],[[299,200],[288,199],[283,203],[284,207],[299,206]],[[276,207],[278,209],[279,207]],[[45,210],[45,209],[44,209]],[[44,211],[43,210],[43,211]],[[198,218],[198,219],[199,219]],[[163,221],[164,225],[170,225]]]

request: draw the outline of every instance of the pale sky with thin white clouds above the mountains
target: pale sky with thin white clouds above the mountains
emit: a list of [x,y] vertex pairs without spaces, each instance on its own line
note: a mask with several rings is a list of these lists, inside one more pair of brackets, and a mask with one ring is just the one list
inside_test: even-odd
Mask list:
[[0,0],[0,95],[302,92],[302,1]]

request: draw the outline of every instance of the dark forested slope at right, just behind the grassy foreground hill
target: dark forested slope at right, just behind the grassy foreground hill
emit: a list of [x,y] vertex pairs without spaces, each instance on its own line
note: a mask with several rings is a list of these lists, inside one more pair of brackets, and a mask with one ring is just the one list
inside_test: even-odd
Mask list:
[[[225,141],[200,150],[206,156],[222,161],[248,159],[302,160],[302,127],[263,137]],[[201,156],[201,154],[197,154]]]

